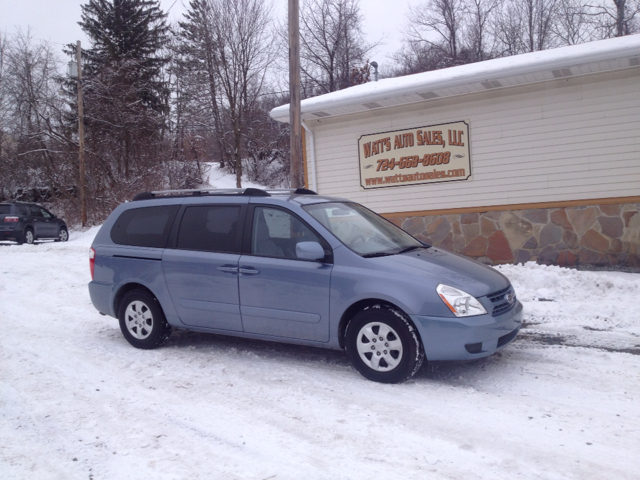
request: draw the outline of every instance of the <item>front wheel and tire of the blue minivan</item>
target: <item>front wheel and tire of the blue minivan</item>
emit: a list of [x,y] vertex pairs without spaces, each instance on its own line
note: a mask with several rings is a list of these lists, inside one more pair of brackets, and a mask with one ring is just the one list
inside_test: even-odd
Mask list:
[[424,361],[418,332],[406,315],[382,305],[357,313],[345,332],[347,354],[364,377],[380,383],[402,383]]

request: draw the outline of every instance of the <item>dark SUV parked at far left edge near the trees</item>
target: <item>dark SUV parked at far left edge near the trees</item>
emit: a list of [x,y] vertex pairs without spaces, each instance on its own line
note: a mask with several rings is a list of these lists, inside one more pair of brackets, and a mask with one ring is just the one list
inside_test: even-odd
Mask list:
[[0,203],[0,240],[22,244],[43,239],[69,240],[64,220],[35,203]]

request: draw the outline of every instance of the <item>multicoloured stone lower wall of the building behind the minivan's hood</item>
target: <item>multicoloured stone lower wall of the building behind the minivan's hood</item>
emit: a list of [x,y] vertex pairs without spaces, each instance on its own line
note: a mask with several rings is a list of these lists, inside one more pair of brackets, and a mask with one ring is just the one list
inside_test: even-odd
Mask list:
[[640,203],[387,217],[422,241],[490,265],[640,267]]

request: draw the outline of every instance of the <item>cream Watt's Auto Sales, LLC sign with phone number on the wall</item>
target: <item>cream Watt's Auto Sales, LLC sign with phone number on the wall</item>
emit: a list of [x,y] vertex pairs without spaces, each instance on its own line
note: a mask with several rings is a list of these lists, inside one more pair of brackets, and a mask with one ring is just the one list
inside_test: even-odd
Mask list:
[[469,125],[443,123],[358,139],[364,189],[468,180]]

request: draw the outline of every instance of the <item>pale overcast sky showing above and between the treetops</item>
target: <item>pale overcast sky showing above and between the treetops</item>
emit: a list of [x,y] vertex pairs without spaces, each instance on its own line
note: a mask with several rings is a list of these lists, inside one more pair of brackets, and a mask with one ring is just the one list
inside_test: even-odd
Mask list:
[[[229,0],[233,1],[233,0]],[[304,0],[301,0],[303,3]],[[80,40],[88,45],[88,39],[78,26],[80,5],[88,0],[0,0],[0,32],[13,34],[16,28],[31,33],[36,39],[66,44]],[[188,0],[161,0],[162,8],[169,10],[169,21],[181,19],[183,3]],[[364,28],[370,42],[383,40],[370,60],[376,60],[381,66],[389,63],[386,58],[400,47],[402,29],[408,5],[418,4],[419,0],[360,0],[364,14]],[[285,21],[287,0],[273,0],[275,15]]]

